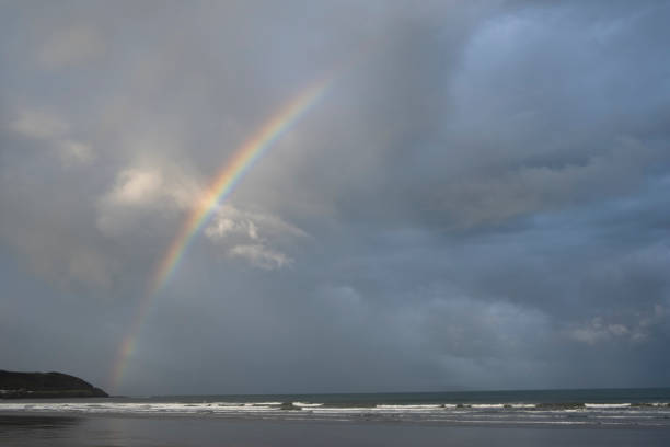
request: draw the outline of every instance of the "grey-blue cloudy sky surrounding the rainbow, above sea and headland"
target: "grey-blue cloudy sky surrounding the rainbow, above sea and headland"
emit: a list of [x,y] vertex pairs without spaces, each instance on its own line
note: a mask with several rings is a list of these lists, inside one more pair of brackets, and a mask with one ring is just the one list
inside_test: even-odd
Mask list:
[[670,3],[0,10],[0,368],[126,394],[670,386]]

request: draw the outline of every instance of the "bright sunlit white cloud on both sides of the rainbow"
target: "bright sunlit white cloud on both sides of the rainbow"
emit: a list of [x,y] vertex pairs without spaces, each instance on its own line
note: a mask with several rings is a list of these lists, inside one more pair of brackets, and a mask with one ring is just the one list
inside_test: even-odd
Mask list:
[[[184,219],[203,196],[197,175],[176,164],[136,163],[119,171],[114,184],[97,203],[97,228],[109,237],[136,232],[148,220]],[[160,217],[160,218],[159,218]],[[205,228],[205,236],[230,259],[263,268],[284,268],[292,257],[277,245],[304,238],[301,229],[262,210],[221,205]]]

